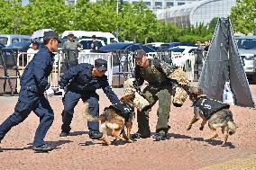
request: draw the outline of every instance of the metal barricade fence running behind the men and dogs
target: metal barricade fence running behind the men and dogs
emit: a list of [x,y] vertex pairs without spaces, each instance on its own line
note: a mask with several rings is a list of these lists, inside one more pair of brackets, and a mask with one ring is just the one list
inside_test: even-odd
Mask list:
[[[69,51],[70,52],[70,51]],[[52,72],[49,76],[49,83],[50,87],[53,89],[58,90],[59,85],[59,77],[72,67],[72,65],[76,65],[76,63],[89,63],[94,65],[96,58],[103,58],[108,63],[108,68],[106,75],[108,77],[109,85],[120,87],[123,85],[123,81],[127,78],[132,76],[133,68],[135,66],[133,60],[133,53],[129,53],[127,51],[122,50],[115,50],[111,53],[91,53],[87,51],[71,51],[72,55],[65,50],[59,50],[59,53],[55,56],[55,63],[53,65]],[[10,79],[11,77],[15,79],[15,84],[11,85],[12,92],[16,91],[19,92],[20,84],[19,78],[23,74],[23,71],[29,61],[32,59],[33,54],[28,53],[17,53],[15,52],[13,56],[14,62],[16,65],[13,64],[13,72],[14,76],[8,76],[8,69],[5,65],[7,61],[6,56],[3,54],[5,53],[4,49],[0,49],[0,56],[1,62],[0,65],[2,66],[2,72],[0,72],[0,79],[5,79],[5,82],[0,82],[2,85],[11,85]],[[158,57],[162,58],[163,55],[169,54],[160,53],[158,52]],[[3,60],[4,59],[4,60]],[[190,81],[194,81],[194,72],[195,72],[195,56],[191,56],[191,58],[187,58],[186,60],[181,60],[180,58],[172,58],[172,62],[177,65],[178,67],[182,67],[183,70],[186,72],[186,75]],[[0,66],[0,69],[1,69]],[[5,69],[6,67],[6,69]],[[4,78],[3,78],[4,77]],[[8,83],[9,82],[9,83]],[[1,85],[0,85],[1,86]],[[15,89],[15,90],[14,90]],[[0,90],[1,94],[1,90]]]

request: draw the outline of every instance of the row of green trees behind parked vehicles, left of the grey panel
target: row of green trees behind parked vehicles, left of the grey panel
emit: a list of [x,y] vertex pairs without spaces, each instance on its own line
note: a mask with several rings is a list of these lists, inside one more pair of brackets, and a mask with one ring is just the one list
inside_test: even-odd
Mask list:
[[[118,13],[117,13],[118,12]],[[21,0],[0,1],[0,33],[32,34],[39,29],[52,29],[59,33],[67,30],[109,31],[119,40],[135,42],[209,40],[212,26],[199,24],[181,29],[161,22],[144,3],[129,4],[116,0],[90,3],[78,0],[75,6],[64,0],[30,0],[22,6]]]

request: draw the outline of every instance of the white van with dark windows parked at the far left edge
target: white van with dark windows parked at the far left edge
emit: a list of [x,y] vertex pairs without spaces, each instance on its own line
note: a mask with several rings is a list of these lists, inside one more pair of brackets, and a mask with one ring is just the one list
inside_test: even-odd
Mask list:
[[14,42],[23,42],[31,40],[31,36],[28,35],[15,35],[15,34],[0,34],[0,43],[5,46],[9,46]]

